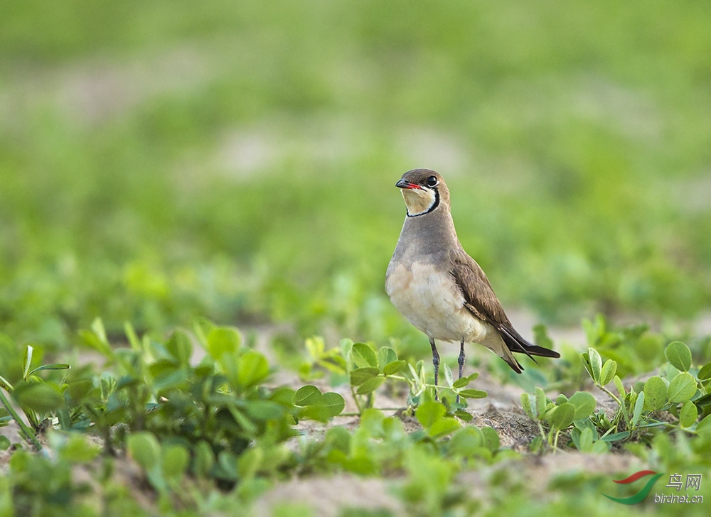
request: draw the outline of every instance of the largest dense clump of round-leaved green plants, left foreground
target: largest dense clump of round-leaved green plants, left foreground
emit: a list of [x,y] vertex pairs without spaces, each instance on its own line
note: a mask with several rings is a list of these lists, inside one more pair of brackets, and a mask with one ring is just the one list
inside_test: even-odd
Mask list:
[[[55,386],[34,380],[33,374],[68,365],[26,366],[24,383],[13,388],[3,381],[3,387],[33,422],[34,428],[26,430],[33,442],[38,414],[57,418],[66,430],[96,432],[109,452],[124,447],[128,437],[129,450],[161,492],[188,468],[232,484],[247,479],[245,472],[274,471],[284,459],[277,446],[296,435],[294,424],[326,421],[343,410],[343,397],[315,386],[298,391],[262,386],[270,373],[267,359],[242,346],[236,329],[200,320],[195,332],[206,352],[198,364],[191,363],[193,344],[182,330],[159,343],[147,336],[138,339],[127,324],[130,347],[114,349],[96,320],[82,338],[105,355],[114,371]],[[30,347],[29,358],[31,353]]]

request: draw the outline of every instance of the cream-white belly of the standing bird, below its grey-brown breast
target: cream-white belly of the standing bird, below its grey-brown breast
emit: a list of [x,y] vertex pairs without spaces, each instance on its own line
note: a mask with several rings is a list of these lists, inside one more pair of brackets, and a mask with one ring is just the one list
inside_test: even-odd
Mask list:
[[497,334],[464,307],[464,295],[454,277],[437,271],[431,263],[412,263],[410,267],[391,263],[385,291],[412,325],[434,339],[482,343],[489,341],[488,334]]

